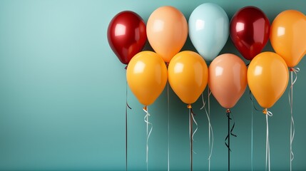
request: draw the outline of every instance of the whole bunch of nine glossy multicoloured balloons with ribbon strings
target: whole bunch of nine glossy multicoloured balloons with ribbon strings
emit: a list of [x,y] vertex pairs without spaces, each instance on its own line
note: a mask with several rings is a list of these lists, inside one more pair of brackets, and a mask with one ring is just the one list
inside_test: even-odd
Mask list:
[[[205,3],[193,10],[188,22],[173,6],[161,6],[153,11],[147,24],[132,11],[117,14],[108,26],[108,43],[119,60],[128,65],[127,83],[144,105],[147,124],[148,105],[162,93],[167,80],[187,104],[190,118],[191,104],[208,85],[218,103],[226,108],[230,120],[230,108],[247,86],[264,108],[263,113],[272,115],[267,109],[285,92],[289,80],[287,67],[297,66],[306,54],[305,29],[306,16],[295,10],[283,11],[270,26],[267,16],[255,6],[240,9],[229,21],[220,6]],[[180,52],[188,35],[198,53]],[[219,56],[228,36],[250,61],[248,68],[234,54]],[[147,38],[155,52],[142,51]],[[262,52],[269,38],[276,53]],[[297,72],[293,68],[290,71]],[[147,126],[147,135],[150,133]],[[230,134],[233,135],[228,133],[229,151]]]

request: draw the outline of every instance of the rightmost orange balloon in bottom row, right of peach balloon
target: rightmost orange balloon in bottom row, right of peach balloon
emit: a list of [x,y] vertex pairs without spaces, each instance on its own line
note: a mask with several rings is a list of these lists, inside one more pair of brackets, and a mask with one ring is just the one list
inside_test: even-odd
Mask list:
[[248,85],[262,108],[271,108],[285,92],[289,79],[285,61],[273,52],[255,56],[248,67]]

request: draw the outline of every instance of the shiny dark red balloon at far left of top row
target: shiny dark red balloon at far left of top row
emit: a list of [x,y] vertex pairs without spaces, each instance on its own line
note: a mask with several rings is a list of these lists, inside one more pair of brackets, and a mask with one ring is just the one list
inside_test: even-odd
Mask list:
[[122,11],[108,25],[107,38],[121,63],[128,65],[131,58],[146,44],[146,24],[135,12]]

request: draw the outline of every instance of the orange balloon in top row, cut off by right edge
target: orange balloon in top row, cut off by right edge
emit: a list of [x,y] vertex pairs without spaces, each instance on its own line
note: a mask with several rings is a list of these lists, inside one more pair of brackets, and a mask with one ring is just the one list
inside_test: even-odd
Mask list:
[[287,66],[297,66],[306,54],[306,16],[300,11],[282,11],[272,22],[270,41]]

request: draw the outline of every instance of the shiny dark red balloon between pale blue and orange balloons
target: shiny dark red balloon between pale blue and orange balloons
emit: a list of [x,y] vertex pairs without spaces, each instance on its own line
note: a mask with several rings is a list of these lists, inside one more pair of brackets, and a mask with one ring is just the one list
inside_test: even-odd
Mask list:
[[255,6],[245,6],[237,11],[230,21],[230,38],[248,60],[252,60],[262,51],[269,36],[269,19]]

